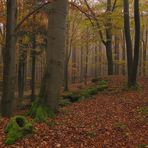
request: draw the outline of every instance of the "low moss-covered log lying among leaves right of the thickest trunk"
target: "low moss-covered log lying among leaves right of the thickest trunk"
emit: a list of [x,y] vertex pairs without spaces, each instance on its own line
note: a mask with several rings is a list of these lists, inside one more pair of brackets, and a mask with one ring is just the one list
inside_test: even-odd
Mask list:
[[[61,97],[61,100],[68,100],[69,102],[65,102],[65,104],[70,104],[73,102],[77,102],[83,99],[91,98],[96,95],[98,92],[105,91],[108,88],[108,83],[105,80],[101,80],[98,84],[93,85],[89,88],[81,89],[76,92],[68,92]],[[64,104],[64,105],[65,105]],[[62,104],[62,106],[64,106]]]

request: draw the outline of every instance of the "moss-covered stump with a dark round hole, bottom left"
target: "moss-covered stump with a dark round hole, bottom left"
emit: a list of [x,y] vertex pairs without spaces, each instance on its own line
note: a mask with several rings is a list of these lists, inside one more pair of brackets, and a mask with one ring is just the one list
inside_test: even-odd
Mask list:
[[31,134],[33,126],[24,116],[15,116],[10,119],[5,132],[7,133],[5,144],[10,145],[25,135]]

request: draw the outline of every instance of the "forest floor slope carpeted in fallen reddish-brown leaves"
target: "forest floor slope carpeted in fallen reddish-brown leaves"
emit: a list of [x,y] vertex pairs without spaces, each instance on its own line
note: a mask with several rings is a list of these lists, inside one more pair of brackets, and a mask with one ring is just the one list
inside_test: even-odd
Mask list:
[[[60,109],[50,124],[35,123],[36,132],[12,148],[144,148],[148,147],[148,78],[143,89],[122,90],[124,77],[109,77],[109,90]],[[0,119],[0,148],[4,127]]]

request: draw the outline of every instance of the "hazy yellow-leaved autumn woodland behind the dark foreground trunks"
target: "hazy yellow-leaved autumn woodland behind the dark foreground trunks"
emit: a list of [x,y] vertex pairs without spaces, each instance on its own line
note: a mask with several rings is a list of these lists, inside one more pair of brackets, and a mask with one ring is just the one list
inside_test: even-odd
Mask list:
[[[123,2],[112,2],[111,12],[107,12],[106,1],[72,1],[68,7],[66,26],[65,72],[63,85],[77,82],[87,82],[95,77],[113,75],[127,75],[126,43],[124,35]],[[147,38],[148,12],[147,1],[140,1],[141,33],[140,59],[138,76],[147,76]],[[17,22],[20,22],[28,12],[36,9],[41,2],[19,1],[17,4]],[[89,5],[89,6],[88,6]],[[133,1],[129,1],[131,38],[134,42]],[[2,0],[0,5],[0,90],[2,91],[3,56],[6,30],[6,4]],[[78,7],[78,8],[77,8]],[[48,7],[31,15],[17,31],[16,45],[16,90],[19,97],[24,92],[34,93],[40,87],[45,67],[45,49],[47,47],[47,10]],[[91,9],[91,10],[90,10]],[[107,24],[111,19],[111,25]],[[111,28],[109,28],[111,27]],[[111,44],[113,72],[108,72],[106,47],[106,30],[111,29]],[[100,32],[102,36],[100,36]],[[110,38],[110,37],[109,37]],[[103,40],[102,40],[103,39]],[[111,63],[110,63],[111,64]],[[32,94],[34,95],[34,94]]]

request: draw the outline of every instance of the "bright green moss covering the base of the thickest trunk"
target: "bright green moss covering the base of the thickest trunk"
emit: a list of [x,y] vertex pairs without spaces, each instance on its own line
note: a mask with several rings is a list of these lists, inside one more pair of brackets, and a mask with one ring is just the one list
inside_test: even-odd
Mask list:
[[28,115],[37,122],[46,122],[48,117],[55,117],[55,113],[48,106],[42,105],[38,101],[32,103]]

